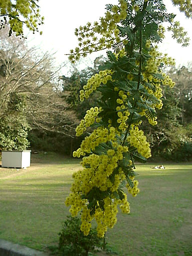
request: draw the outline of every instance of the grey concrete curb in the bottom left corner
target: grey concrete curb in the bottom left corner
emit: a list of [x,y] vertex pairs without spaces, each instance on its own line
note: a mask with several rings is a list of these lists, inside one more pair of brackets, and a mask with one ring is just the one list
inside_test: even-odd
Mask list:
[[0,239],[0,256],[48,256],[48,254],[24,245]]

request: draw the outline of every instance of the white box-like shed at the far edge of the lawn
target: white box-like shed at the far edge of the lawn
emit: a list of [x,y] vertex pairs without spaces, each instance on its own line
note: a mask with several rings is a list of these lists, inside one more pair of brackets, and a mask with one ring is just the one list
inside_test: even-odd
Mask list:
[[30,166],[31,150],[2,151],[2,167],[26,168]]

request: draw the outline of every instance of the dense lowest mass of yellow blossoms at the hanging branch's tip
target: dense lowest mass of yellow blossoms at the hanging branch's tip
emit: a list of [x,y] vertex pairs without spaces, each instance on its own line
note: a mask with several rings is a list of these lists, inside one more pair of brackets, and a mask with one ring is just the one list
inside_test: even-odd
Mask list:
[[[97,135],[101,131],[102,130],[99,130]],[[83,157],[81,163],[83,169],[73,174],[74,183],[71,188],[72,193],[65,202],[67,206],[71,205],[70,212],[72,216],[76,216],[79,211],[82,211],[81,230],[85,235],[89,233],[91,228],[90,222],[95,218],[97,222],[98,236],[103,237],[107,228],[112,228],[117,221],[116,214],[118,212],[118,204],[120,204],[123,213],[130,212],[126,194],[122,193],[121,199],[115,198],[112,194],[118,193],[117,190],[120,183],[125,180],[122,168],[118,168],[118,162],[123,159],[123,154],[128,151],[127,146],[119,145],[115,141],[115,137],[112,135],[114,134],[114,131],[115,129],[111,127],[110,132],[113,149],[108,149],[107,154],[96,155],[92,153],[89,156]],[[110,136],[109,132],[108,136]],[[102,141],[106,140],[106,137],[107,136],[102,137]],[[108,139],[110,138],[108,137]],[[91,147],[91,144],[87,144],[85,151]],[[111,180],[109,177],[113,172],[115,172],[115,175],[114,179]],[[88,195],[94,188],[99,189],[101,192],[111,191],[111,193],[103,199],[104,210],[97,204],[94,214],[90,214],[88,200],[83,199],[80,195]]]

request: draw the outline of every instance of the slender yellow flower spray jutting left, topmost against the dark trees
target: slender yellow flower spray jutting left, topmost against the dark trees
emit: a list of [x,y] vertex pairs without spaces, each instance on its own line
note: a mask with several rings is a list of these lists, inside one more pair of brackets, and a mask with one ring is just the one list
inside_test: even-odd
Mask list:
[[93,75],[88,79],[87,84],[83,87],[83,90],[80,91],[80,101],[88,99],[89,95],[95,91],[101,83],[106,84],[107,81],[112,80],[111,74],[113,72],[109,69],[101,70],[98,74]]

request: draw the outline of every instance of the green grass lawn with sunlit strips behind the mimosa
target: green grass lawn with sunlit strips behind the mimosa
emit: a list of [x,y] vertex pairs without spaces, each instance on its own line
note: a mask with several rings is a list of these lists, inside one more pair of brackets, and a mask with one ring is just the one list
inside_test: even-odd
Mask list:
[[[165,165],[165,170],[151,167]],[[56,245],[76,159],[32,155],[31,167],[0,168],[0,238],[45,250]],[[107,241],[118,255],[192,255],[192,164],[138,164],[140,194],[128,196]]]

